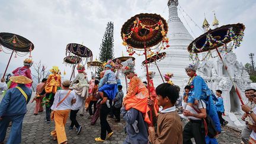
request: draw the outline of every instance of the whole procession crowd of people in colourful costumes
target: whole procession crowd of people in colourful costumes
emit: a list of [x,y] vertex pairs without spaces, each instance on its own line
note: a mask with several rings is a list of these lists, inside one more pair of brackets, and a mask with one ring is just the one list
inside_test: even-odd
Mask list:
[[[72,81],[62,81],[59,68],[53,66],[50,69],[52,73],[42,79],[37,85],[36,95],[31,98],[32,64],[30,59],[25,59],[24,66],[12,72],[14,76],[9,78],[8,84],[1,79],[0,88],[4,96],[0,103],[0,143],[4,143],[10,124],[7,143],[21,143],[22,123],[30,99],[31,103],[36,101],[35,116],[44,111],[44,105],[46,123],[54,121],[55,129],[49,135],[57,143],[68,143],[66,128],[75,129],[77,135],[81,133],[83,124],[76,120],[76,116],[79,111],[79,116],[84,116],[87,110],[92,125],[100,118],[101,133],[95,137],[96,142],[104,142],[114,134],[107,120],[108,114],[114,116],[117,123],[121,118],[126,121],[124,143],[127,144],[192,143],[192,138],[199,144],[217,143],[216,136],[221,133],[221,127],[228,124],[222,117],[225,114],[222,91],[217,89],[215,95],[207,87],[204,79],[196,74],[197,65],[185,68],[190,80],[184,87],[183,96],[180,96],[180,87],[171,81],[172,73],[166,73],[166,82],[155,88],[155,72],[149,72],[148,82],[143,82],[136,75],[131,60],[123,63],[121,69],[130,80],[124,94],[118,72],[115,73],[115,63],[108,60],[100,78],[92,76],[90,81],[83,65],[77,66],[78,74]],[[244,143],[256,143],[256,90],[247,89],[245,96],[248,102],[241,107],[245,112],[242,120],[246,121],[247,127],[241,139]],[[68,118],[71,124],[66,126]],[[183,119],[188,121],[184,128]]]

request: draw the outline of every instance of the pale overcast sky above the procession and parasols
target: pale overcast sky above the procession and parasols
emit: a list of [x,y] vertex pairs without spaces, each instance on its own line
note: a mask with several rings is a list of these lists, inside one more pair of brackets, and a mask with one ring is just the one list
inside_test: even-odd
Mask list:
[[[121,56],[122,51],[127,55],[120,36],[124,22],[141,12],[160,14],[168,20],[167,2],[167,0],[0,0],[0,32],[20,34],[31,40],[35,46],[32,53],[33,61],[37,63],[41,60],[47,69],[54,65],[59,66],[62,73],[65,69],[66,78],[69,78],[71,68],[63,65],[66,44],[83,43],[92,50],[95,59],[100,52],[107,22],[113,21],[114,56]],[[249,53],[256,54],[255,0],[180,0],[179,3],[178,8],[183,8],[200,27],[204,13],[212,24],[213,11],[216,12],[220,25],[244,23],[246,27],[244,41],[234,52],[238,61],[244,64],[249,62]],[[201,30],[185,12],[178,11],[181,21],[190,33],[193,31],[196,37],[200,36]],[[193,33],[191,36],[195,38]],[[0,52],[0,73],[4,72],[9,56]],[[143,57],[134,56],[137,58],[136,71],[139,73]],[[23,65],[25,57],[13,58],[9,72],[16,66]]]

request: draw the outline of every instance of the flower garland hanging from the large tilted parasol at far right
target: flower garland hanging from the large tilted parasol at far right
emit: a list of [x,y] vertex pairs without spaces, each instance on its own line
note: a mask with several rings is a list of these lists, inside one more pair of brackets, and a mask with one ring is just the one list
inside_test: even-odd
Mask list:
[[243,37],[244,37],[244,30],[241,30],[239,32],[239,35],[236,36],[235,32],[232,30],[232,27],[229,28],[229,30],[227,31],[227,34],[226,34],[226,36],[224,37],[223,40],[217,40],[218,36],[213,37],[212,34],[209,33],[209,34],[206,35],[206,41],[204,42],[204,44],[201,48],[196,47],[196,43],[193,43],[193,47],[192,47],[192,50],[191,50],[191,53],[190,53],[190,59],[193,60],[193,62],[194,62],[196,60],[203,61],[206,58],[209,59],[210,57],[212,57],[212,58],[217,57],[217,55],[216,56],[212,55],[212,52],[211,52],[210,49],[208,50],[207,54],[203,57],[203,59],[199,59],[199,56],[197,55],[197,53],[196,53],[196,56],[193,56],[196,51],[197,52],[202,52],[204,49],[207,49],[207,47],[209,47],[209,46],[210,47],[215,47],[217,44],[222,44],[223,45],[223,48],[220,50],[220,52],[224,51],[225,54],[227,55],[228,52],[230,52],[230,49],[228,49],[228,47],[226,46],[225,41],[228,40],[228,39],[233,41],[231,49],[233,49],[233,48],[236,49],[236,47],[240,46]]

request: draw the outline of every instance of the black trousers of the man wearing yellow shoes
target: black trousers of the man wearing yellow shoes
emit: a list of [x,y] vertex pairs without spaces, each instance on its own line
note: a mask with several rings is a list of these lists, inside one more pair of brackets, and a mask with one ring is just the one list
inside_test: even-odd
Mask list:
[[106,138],[106,131],[111,133],[111,127],[107,121],[107,114],[110,113],[110,108],[107,107],[107,104],[101,104],[100,109],[100,124],[101,124],[101,139],[105,140]]

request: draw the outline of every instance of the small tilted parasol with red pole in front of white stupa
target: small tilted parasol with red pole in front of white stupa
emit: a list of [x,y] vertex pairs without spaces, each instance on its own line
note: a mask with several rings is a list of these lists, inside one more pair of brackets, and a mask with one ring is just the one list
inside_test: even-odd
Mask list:
[[[142,62],[142,65],[145,65],[146,61],[147,61],[147,63],[153,63],[154,62],[155,65],[156,65],[156,68],[158,68],[158,65],[157,65],[156,61],[160,61],[160,60],[164,59],[165,56],[166,56],[165,52],[156,53],[155,55],[149,55],[148,58]],[[162,78],[162,73],[160,72],[159,68],[158,68],[158,72],[159,72],[159,74]],[[163,78],[162,78],[162,81],[164,82]]]

